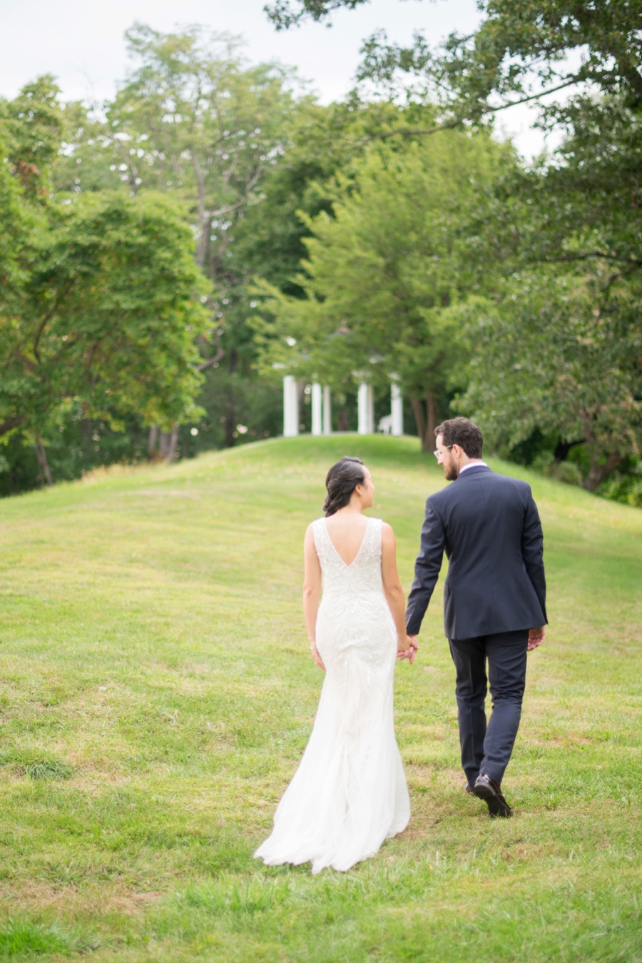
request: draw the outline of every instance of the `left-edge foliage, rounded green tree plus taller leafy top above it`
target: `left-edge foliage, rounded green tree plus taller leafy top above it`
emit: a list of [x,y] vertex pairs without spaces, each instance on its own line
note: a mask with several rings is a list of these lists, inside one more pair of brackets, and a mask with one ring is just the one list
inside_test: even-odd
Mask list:
[[[47,481],[46,445],[78,410],[112,429],[127,415],[164,427],[197,417],[195,339],[211,327],[175,201],[52,194],[68,121],[82,114],[64,112],[58,92],[43,77],[0,103],[0,435],[35,444]],[[35,477],[24,445],[12,452],[1,474],[15,490]]]

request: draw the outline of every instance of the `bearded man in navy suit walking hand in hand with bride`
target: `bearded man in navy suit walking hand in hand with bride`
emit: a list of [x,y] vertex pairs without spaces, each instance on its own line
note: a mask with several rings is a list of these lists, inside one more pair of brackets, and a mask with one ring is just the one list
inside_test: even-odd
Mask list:
[[522,714],[526,651],[541,645],[546,631],[542,526],[526,481],[496,475],[481,460],[473,422],[452,418],[435,436],[437,461],[453,484],[425,504],[406,631],[419,633],[446,551],[444,628],[456,670],[466,791],[485,799],[491,817],[508,817],[501,779]]

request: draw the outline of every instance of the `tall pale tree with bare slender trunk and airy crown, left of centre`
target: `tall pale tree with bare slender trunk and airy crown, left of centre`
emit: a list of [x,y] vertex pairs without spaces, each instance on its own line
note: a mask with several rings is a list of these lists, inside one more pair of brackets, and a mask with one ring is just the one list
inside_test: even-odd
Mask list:
[[[109,173],[132,194],[162,191],[180,200],[196,264],[215,286],[209,331],[200,332],[197,344],[203,369],[218,369],[220,395],[230,383],[226,376],[253,374],[246,318],[254,266],[235,255],[236,230],[259,205],[288,141],[297,109],[291,72],[247,67],[235,39],[198,27],[161,34],[136,24],[127,39],[135,69],[107,105],[105,124],[97,128],[82,117],[76,123],[64,162],[66,187],[74,181],[83,190],[100,186],[100,169],[103,179]],[[229,393],[223,405],[228,443],[246,417],[237,396]],[[209,412],[209,420],[215,418],[218,408]]]

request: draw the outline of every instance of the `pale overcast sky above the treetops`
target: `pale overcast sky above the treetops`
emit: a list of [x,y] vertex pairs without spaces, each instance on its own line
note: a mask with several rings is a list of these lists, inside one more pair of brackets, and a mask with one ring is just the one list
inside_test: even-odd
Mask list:
[[[168,32],[200,23],[240,35],[253,63],[294,65],[321,101],[350,89],[361,41],[384,28],[390,39],[410,43],[415,29],[438,43],[451,31],[470,33],[478,22],[475,0],[371,0],[332,16],[332,27],[307,23],[277,33],[263,12],[265,0],[0,0],[0,95],[53,73],[64,99],[99,102],[112,97],[127,73],[123,34],[135,20]],[[541,149],[530,129],[533,114],[511,109],[501,127],[526,156]]]

